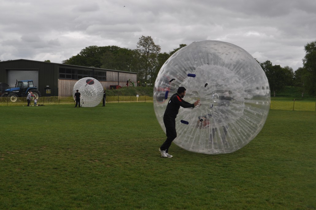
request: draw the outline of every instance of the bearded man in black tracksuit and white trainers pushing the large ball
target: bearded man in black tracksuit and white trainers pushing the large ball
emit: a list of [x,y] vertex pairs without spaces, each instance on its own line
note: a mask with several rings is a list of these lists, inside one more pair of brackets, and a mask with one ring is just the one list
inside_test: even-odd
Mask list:
[[163,115],[163,123],[166,127],[166,141],[161,145],[159,151],[161,152],[161,157],[172,158],[173,156],[168,153],[168,149],[172,141],[177,137],[176,132],[176,117],[179,112],[180,106],[183,108],[194,108],[200,102],[197,100],[194,103],[188,103],[182,98],[185,96],[185,88],[179,87],[176,94],[173,94],[167,104],[165,114]]

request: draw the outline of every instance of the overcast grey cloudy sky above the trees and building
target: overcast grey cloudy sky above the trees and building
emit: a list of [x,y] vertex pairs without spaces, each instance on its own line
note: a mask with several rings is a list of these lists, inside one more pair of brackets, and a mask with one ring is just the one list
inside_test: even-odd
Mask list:
[[0,0],[0,60],[61,63],[87,46],[161,52],[194,41],[240,46],[259,62],[302,66],[316,40],[315,0]]

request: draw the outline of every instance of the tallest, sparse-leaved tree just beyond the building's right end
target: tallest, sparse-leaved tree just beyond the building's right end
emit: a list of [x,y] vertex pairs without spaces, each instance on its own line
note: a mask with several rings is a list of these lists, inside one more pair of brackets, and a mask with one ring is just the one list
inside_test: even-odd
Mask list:
[[151,36],[141,36],[137,42],[137,51],[140,56],[138,78],[141,83],[151,85],[157,77],[161,47],[155,44]]

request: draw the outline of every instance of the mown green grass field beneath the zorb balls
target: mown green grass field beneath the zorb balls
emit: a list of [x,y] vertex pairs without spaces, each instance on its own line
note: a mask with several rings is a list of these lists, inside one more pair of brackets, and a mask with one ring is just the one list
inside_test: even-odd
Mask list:
[[152,103],[0,107],[0,209],[316,209],[316,112],[222,155],[161,158]]

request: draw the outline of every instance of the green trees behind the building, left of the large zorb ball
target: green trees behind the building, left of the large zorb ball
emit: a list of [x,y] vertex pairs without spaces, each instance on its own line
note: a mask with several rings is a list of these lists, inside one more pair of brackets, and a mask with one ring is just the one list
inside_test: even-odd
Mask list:
[[177,50],[186,46],[179,45],[172,52],[161,52],[150,36],[141,36],[136,49],[119,46],[88,46],[63,64],[93,66],[95,68],[137,72],[140,84],[153,85],[161,66]]

